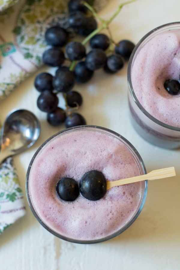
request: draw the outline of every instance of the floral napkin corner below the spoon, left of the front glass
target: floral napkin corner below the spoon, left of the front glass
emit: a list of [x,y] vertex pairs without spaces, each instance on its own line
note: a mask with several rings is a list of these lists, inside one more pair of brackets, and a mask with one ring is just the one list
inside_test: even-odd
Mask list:
[[10,157],[0,164],[0,234],[25,213],[23,193]]

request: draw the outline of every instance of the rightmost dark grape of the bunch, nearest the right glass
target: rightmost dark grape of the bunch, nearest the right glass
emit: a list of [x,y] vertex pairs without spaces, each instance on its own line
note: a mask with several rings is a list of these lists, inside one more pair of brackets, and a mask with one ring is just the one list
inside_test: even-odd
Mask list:
[[129,59],[134,47],[135,44],[133,42],[122,40],[116,44],[115,52],[123,56],[125,59]]

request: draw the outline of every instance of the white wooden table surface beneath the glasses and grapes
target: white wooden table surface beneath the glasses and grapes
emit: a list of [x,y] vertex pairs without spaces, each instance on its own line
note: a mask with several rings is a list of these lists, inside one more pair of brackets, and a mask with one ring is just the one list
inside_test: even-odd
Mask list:
[[[108,19],[123,1],[111,0],[99,13]],[[139,0],[123,7],[111,23],[115,41],[137,43],[143,35],[164,23],[179,21],[179,0]],[[37,73],[47,70],[43,67]],[[51,70],[52,71],[52,70]],[[36,74],[37,74],[36,73]],[[90,270],[90,269],[180,269],[180,152],[153,146],[132,128],[127,102],[127,65],[116,75],[98,70],[88,84],[76,85],[84,103],[79,113],[89,125],[110,128],[126,137],[143,158],[147,172],[174,166],[176,177],[149,182],[144,208],[125,232],[99,244],[73,244],[47,232],[33,216],[25,190],[26,171],[35,150],[49,136],[64,129],[46,122],[46,113],[36,106],[38,91],[26,79],[0,104],[0,121],[10,110],[26,108],[41,121],[42,131],[35,145],[14,162],[26,200],[26,215],[0,235],[1,270]]]

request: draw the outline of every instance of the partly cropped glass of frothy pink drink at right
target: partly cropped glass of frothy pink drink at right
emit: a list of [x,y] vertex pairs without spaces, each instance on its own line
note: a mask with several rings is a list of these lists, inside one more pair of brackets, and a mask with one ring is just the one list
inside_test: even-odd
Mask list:
[[128,98],[135,129],[155,145],[179,148],[180,91],[170,94],[164,86],[167,80],[180,82],[180,22],[145,35],[128,64]]

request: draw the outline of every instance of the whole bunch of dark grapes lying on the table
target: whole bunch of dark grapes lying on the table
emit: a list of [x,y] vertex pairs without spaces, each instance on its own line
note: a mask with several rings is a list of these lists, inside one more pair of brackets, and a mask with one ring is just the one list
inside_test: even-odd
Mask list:
[[[55,75],[43,72],[35,78],[35,88],[41,92],[38,108],[47,113],[47,121],[51,125],[64,123],[66,128],[86,124],[84,117],[76,113],[82,104],[82,96],[73,91],[75,83],[88,82],[100,68],[107,73],[116,73],[122,69],[135,46],[128,40],[115,44],[103,33],[93,35],[97,21],[81,0],[70,0],[68,12],[66,29],[52,26],[45,32],[46,43],[51,47],[44,52],[42,60],[50,67],[57,67]],[[72,31],[84,36],[83,41],[71,40],[69,33]],[[88,52],[85,47],[87,41],[90,45]],[[110,49],[112,44],[113,49]],[[65,65],[65,61],[68,64]],[[58,93],[65,99],[65,110],[58,107]]]

